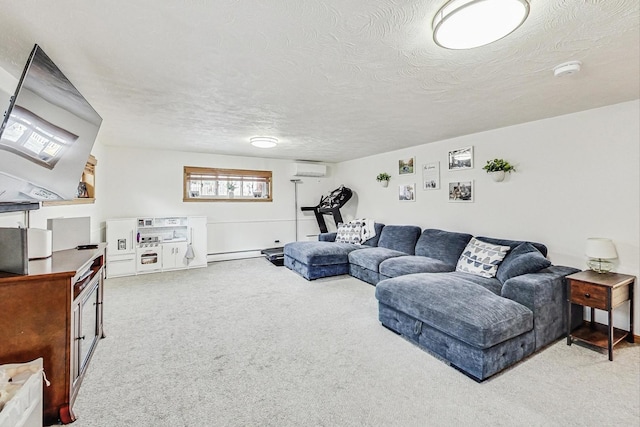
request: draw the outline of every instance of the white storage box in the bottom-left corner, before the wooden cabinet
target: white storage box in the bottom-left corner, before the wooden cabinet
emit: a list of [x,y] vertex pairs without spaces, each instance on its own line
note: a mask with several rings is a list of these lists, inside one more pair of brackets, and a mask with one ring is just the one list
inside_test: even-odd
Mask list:
[[[11,374],[21,370],[18,374]],[[0,390],[7,375],[12,385],[20,385],[0,411],[0,427],[42,427],[42,358],[28,363],[0,365]]]

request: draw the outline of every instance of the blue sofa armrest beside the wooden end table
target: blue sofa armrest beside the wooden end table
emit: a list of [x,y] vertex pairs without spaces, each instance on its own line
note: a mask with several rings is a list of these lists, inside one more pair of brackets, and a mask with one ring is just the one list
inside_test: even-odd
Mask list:
[[[550,344],[567,331],[567,287],[565,276],[578,269],[551,266],[538,273],[513,277],[502,286],[502,296],[516,301],[533,312],[536,350]],[[572,310],[571,323],[582,321],[582,314]],[[579,319],[579,320],[576,320]]]

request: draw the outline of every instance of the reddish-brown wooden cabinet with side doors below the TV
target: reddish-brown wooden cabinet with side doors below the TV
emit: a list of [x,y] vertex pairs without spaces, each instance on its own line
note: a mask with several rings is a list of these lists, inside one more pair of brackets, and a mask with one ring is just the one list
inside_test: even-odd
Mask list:
[[44,359],[44,423],[75,421],[73,402],[100,338],[105,244],[0,272],[0,364]]

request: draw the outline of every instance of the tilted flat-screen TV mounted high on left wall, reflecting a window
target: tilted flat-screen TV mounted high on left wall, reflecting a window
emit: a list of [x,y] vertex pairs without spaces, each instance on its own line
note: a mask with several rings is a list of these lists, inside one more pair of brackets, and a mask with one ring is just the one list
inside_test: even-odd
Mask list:
[[101,124],[36,44],[0,126],[0,202],[76,197]]

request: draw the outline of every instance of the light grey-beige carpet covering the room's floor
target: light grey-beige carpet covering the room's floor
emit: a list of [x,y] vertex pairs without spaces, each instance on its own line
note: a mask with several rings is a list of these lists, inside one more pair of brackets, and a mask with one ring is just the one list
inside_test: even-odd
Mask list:
[[640,345],[560,340],[478,384],[380,325],[374,287],[266,260],[109,279],[89,426],[640,423]]

